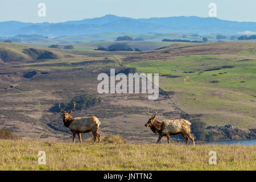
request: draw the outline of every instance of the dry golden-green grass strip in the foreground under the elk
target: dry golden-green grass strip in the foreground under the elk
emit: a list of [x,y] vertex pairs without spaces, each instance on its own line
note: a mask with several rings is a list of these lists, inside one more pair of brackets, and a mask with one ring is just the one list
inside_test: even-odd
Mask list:
[[[255,170],[255,146],[185,146],[122,143],[100,144],[0,140],[0,170]],[[38,152],[46,152],[46,165]],[[210,151],[217,165],[208,163]]]

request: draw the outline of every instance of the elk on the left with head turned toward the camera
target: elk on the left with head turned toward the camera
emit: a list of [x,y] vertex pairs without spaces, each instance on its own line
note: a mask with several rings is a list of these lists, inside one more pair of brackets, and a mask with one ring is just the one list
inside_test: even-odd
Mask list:
[[[59,103],[60,107],[60,103]],[[79,137],[80,142],[82,143],[81,133],[89,133],[92,132],[94,137],[94,142],[96,142],[96,138],[98,138],[98,142],[101,140],[101,135],[98,133],[98,127],[101,122],[97,117],[77,117],[73,118],[70,114],[75,109],[76,104],[74,102],[74,108],[69,111],[65,111],[60,107],[61,113],[63,113],[63,123],[65,127],[68,127],[69,130],[73,133],[73,142],[75,142],[76,134]]]

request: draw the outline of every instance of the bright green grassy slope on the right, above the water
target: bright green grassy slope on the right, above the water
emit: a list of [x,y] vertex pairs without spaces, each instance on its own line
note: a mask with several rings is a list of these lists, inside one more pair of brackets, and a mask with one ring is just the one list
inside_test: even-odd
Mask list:
[[211,125],[255,127],[255,51],[134,62],[126,66],[159,73],[160,88],[176,92],[173,101],[185,112],[204,114]]

